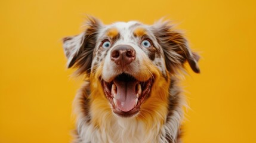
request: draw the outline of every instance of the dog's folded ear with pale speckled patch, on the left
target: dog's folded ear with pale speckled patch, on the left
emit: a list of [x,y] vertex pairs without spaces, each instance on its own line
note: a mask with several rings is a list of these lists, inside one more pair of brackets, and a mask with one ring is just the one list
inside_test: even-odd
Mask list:
[[89,17],[85,32],[76,36],[63,38],[63,48],[67,57],[67,67],[77,67],[76,73],[90,74],[92,54],[97,41],[98,30],[103,26],[101,21]]

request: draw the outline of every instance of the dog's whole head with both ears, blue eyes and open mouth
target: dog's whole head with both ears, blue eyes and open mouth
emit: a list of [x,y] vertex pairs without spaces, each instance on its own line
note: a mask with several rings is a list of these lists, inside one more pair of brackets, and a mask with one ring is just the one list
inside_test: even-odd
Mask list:
[[110,105],[122,117],[150,112],[166,100],[170,76],[185,61],[199,73],[198,55],[168,22],[104,25],[90,18],[85,32],[63,42],[68,67],[75,66],[78,74],[90,77],[91,92],[97,92],[92,100],[100,98],[101,104]]

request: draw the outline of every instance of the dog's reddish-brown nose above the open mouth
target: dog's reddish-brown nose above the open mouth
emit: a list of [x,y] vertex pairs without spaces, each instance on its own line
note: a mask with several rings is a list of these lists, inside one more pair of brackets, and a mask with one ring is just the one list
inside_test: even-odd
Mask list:
[[117,45],[111,51],[111,60],[122,67],[134,61],[135,58],[135,50],[129,45]]

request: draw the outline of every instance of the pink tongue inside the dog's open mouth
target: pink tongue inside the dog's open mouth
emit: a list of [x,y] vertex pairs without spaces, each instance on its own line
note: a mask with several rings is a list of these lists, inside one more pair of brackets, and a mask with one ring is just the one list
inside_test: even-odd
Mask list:
[[137,82],[134,81],[114,81],[115,85],[117,86],[117,93],[116,93],[116,101],[117,107],[121,111],[130,111],[132,108],[135,107],[135,85]]

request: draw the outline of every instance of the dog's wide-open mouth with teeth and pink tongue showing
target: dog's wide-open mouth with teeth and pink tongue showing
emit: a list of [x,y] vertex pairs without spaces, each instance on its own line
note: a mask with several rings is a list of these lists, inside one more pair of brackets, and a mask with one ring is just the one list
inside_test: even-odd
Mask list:
[[113,113],[121,117],[132,117],[140,111],[141,104],[149,97],[153,77],[139,81],[127,73],[122,73],[111,82],[102,79],[101,85],[112,105]]

